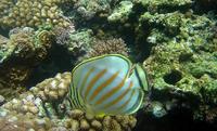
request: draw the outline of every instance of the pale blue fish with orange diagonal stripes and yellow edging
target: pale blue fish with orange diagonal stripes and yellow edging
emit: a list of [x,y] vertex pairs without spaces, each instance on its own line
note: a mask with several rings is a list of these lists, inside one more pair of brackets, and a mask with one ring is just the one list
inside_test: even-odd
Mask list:
[[120,54],[86,60],[72,71],[73,108],[92,115],[130,115],[142,105],[149,90],[146,73]]

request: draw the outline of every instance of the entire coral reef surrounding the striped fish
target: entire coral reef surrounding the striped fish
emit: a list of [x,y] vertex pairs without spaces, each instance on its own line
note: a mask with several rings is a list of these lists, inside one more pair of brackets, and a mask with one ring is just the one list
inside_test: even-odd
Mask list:
[[[216,127],[216,0],[1,0],[0,128],[131,130],[135,116],[101,118],[68,105],[71,73],[64,71],[110,53],[143,63],[150,78],[137,127],[174,130],[179,118],[190,121],[178,120],[181,127]],[[7,38],[13,27],[22,28]],[[22,93],[33,69],[34,79],[46,80]]]

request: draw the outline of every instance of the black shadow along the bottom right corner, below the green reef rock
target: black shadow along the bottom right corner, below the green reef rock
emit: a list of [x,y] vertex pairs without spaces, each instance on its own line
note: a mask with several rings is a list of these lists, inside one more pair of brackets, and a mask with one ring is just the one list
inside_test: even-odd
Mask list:
[[[142,117],[141,117],[142,116]],[[187,108],[176,108],[168,115],[156,118],[138,114],[138,122],[133,131],[216,131],[216,122],[195,121]]]

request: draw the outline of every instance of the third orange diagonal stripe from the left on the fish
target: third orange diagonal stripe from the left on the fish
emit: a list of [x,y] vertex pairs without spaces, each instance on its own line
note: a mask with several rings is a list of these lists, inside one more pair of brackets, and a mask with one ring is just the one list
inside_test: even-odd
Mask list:
[[101,86],[99,86],[92,95],[90,96],[90,101],[92,101],[106,86],[108,86],[119,74],[119,71],[115,73],[112,77],[110,77],[105,82],[103,82]]

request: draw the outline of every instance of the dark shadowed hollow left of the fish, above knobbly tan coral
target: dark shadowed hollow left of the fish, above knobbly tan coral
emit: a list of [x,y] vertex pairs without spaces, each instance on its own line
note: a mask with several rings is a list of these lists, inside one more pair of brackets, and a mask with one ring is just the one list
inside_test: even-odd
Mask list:
[[47,78],[54,77],[56,73],[72,70],[73,60],[76,61],[64,48],[54,44],[48,57],[33,70],[27,87],[33,87]]

